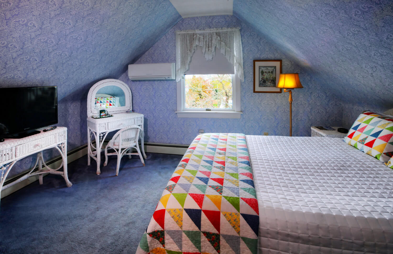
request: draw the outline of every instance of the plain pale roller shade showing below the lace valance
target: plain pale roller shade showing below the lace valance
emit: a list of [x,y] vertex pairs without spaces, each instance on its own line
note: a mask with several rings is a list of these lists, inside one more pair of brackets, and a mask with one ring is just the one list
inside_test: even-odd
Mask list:
[[[235,67],[215,48],[215,57],[206,60],[202,47],[196,47],[188,71],[184,74],[235,74]],[[214,54],[213,54],[214,55]]]

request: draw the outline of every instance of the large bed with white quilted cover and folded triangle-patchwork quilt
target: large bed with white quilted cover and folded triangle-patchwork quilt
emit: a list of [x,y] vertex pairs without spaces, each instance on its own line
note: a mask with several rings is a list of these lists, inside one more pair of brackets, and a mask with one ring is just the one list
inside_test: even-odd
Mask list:
[[198,135],[137,253],[393,253],[393,170],[369,154],[341,138]]

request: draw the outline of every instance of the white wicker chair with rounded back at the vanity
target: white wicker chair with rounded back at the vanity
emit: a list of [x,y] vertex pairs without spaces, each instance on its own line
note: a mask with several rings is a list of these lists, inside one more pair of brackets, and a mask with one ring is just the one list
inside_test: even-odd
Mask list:
[[[141,127],[138,125],[127,126],[113,136],[113,138],[105,147],[105,163],[104,166],[107,166],[108,163],[108,155],[118,155],[118,163],[116,165],[116,175],[119,175],[119,167],[120,160],[123,155],[139,155],[143,166],[145,166],[145,162],[143,161],[143,157],[141,155],[141,151],[139,150],[139,133],[141,131]],[[115,150],[113,153],[108,153],[108,148],[112,148]],[[136,153],[132,153],[132,148],[136,149]]]

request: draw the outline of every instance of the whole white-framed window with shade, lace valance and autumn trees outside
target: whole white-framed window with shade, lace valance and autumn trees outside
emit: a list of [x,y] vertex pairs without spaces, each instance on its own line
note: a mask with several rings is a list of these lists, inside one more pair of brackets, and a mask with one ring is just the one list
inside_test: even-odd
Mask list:
[[240,118],[241,79],[239,28],[176,31],[178,117]]

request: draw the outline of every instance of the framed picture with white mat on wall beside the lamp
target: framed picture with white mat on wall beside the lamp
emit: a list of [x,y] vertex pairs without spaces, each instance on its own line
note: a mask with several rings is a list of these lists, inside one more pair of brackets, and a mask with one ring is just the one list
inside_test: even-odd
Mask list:
[[280,73],[281,60],[254,60],[254,93],[281,93]]

